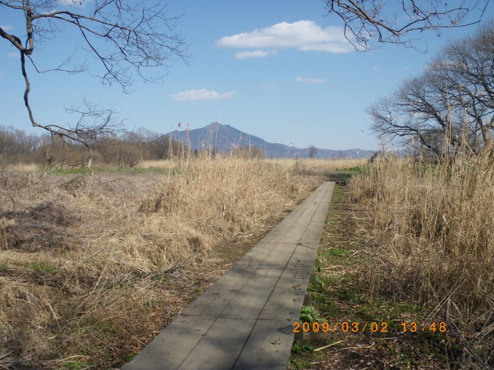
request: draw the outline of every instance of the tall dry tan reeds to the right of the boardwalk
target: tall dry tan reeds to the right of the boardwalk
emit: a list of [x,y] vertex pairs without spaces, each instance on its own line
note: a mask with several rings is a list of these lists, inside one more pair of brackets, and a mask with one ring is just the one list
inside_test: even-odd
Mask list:
[[494,145],[441,164],[380,158],[362,172],[350,188],[374,224],[371,289],[426,305],[422,320],[446,320],[466,357],[492,367]]

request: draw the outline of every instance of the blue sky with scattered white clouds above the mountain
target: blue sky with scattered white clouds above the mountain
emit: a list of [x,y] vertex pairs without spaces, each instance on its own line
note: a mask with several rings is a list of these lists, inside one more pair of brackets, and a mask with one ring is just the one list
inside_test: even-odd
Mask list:
[[[487,9],[492,15],[493,5]],[[342,21],[326,16],[321,0],[170,1],[170,15],[180,15],[177,30],[189,44],[191,66],[177,61],[163,83],[135,78],[129,95],[119,86],[104,87],[88,74],[28,73],[30,102],[40,123],[63,124],[64,105],[86,96],[112,106],[128,127],[166,133],[178,122],[191,129],[213,121],[298,148],[376,149],[364,109],[391,93],[407,77],[420,74],[441,44],[473,28],[450,29],[442,37],[424,34],[427,53],[386,44],[356,52],[342,37]],[[0,25],[13,34],[22,19],[2,12]],[[81,39],[67,30],[35,50],[41,68],[58,66]],[[87,55],[82,48],[78,55]],[[24,80],[17,51],[0,39],[0,124],[28,132],[23,105]],[[93,64],[91,57],[89,62]],[[98,68],[97,65],[94,65]],[[182,125],[182,129],[185,124]],[[362,133],[362,130],[364,133]]]

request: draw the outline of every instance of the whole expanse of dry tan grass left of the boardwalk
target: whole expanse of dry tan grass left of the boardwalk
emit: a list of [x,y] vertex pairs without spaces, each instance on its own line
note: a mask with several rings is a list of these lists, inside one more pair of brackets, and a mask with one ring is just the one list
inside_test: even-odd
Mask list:
[[0,364],[122,365],[192,298],[182,266],[266,229],[321,181],[235,157],[173,168],[162,177],[3,174]]

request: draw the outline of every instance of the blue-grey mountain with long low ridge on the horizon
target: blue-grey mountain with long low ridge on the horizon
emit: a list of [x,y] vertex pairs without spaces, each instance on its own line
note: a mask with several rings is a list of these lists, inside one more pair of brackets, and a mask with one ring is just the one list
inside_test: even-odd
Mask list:
[[[268,143],[265,140],[254,135],[248,135],[230,125],[222,125],[218,122],[213,122],[203,128],[189,130],[188,134],[185,131],[172,131],[170,135],[172,139],[182,143],[190,143],[193,150],[203,150],[206,148],[217,148],[220,152],[231,150],[236,147],[247,147],[251,145],[266,153],[267,158],[285,158],[297,155],[307,158],[309,156],[309,148],[295,148],[279,143]],[[332,150],[318,148],[316,158],[332,158],[332,157],[365,157],[371,156],[372,150],[366,151],[362,149],[347,149],[347,150]]]

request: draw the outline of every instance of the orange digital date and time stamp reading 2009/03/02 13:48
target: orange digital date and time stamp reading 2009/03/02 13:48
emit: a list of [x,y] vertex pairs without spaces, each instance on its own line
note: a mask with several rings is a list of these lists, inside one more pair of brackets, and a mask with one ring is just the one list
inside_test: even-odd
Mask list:
[[[436,331],[440,333],[446,332],[446,323],[444,322],[432,322],[432,323],[416,323],[414,321],[408,323],[408,322],[402,322],[401,323],[402,327],[402,332],[410,332],[410,333],[415,333],[415,332],[433,332],[435,333]],[[336,331],[341,331],[343,333],[348,333],[348,332],[353,332],[353,333],[358,333],[358,332],[364,332],[365,330],[371,331],[373,333],[388,333],[390,329],[388,328],[388,323],[387,322],[382,322],[382,323],[377,323],[377,322],[365,322],[365,323],[357,323],[357,322],[349,322],[349,321],[343,321],[341,323],[336,322],[333,324],[329,322],[323,322],[323,323],[299,323],[298,321],[295,321],[293,323],[293,333],[308,333],[308,332],[319,332],[322,331],[324,333],[327,332],[336,332]]]

